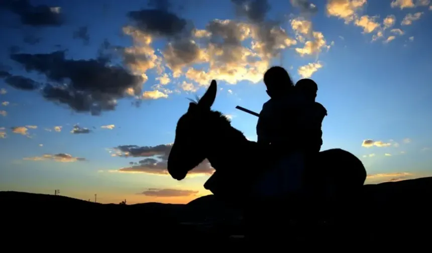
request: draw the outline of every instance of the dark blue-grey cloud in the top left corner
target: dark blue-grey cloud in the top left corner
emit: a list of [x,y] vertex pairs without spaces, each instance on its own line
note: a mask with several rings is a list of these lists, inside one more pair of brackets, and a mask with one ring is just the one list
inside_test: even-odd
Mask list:
[[60,26],[64,22],[60,7],[33,6],[29,0],[4,0],[0,3],[0,9],[9,10],[18,15],[23,25]]

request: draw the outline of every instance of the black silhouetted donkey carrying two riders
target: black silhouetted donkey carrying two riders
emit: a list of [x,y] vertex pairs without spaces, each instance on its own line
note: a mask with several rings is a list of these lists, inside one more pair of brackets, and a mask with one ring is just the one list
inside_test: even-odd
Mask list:
[[[273,168],[273,154],[269,148],[247,140],[221,112],[210,109],[216,93],[217,83],[212,80],[205,94],[190,102],[178,120],[168,172],[174,179],[182,180],[207,159],[215,172],[204,187],[215,197],[244,207],[257,199],[256,186],[263,173]],[[306,185],[322,192],[320,187],[331,182],[338,199],[348,199],[352,192],[361,191],[366,180],[363,163],[342,149],[321,151],[314,164],[317,166],[306,170]]]

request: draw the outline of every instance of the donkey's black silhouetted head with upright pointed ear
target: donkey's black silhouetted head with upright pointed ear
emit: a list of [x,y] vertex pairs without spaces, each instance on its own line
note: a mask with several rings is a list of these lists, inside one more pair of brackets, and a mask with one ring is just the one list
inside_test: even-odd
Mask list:
[[210,110],[216,91],[217,83],[212,80],[201,99],[189,103],[187,112],[177,122],[167,165],[168,172],[174,179],[184,179],[188,171],[206,158],[211,137],[217,128],[215,122],[221,115]]

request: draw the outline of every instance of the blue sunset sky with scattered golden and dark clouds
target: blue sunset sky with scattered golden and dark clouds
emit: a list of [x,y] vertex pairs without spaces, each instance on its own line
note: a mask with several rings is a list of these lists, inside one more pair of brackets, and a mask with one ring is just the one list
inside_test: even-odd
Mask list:
[[[97,202],[187,203],[212,172],[166,171],[187,98],[256,140],[273,65],[312,78],[328,110],[321,150],[366,183],[432,176],[429,0],[150,0],[0,3],[0,190]],[[428,32],[429,31],[429,32]]]

